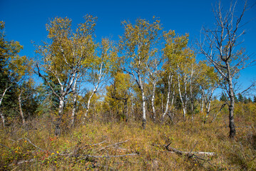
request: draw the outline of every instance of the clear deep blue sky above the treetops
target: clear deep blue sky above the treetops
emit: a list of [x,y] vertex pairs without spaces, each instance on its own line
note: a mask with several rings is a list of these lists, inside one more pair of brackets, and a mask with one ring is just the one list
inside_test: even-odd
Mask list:
[[[238,0],[238,7],[242,7]],[[248,0],[255,4],[255,0]],[[224,6],[229,6],[229,0],[222,0]],[[5,21],[6,38],[19,41],[24,46],[20,55],[34,57],[34,46],[31,41],[40,44],[46,40],[46,23],[54,17],[68,17],[73,24],[83,22],[83,16],[91,14],[98,17],[96,36],[112,37],[118,40],[118,35],[123,33],[121,21],[135,19],[152,19],[159,17],[163,28],[176,33],[189,33],[190,39],[198,38],[203,25],[213,26],[213,6],[215,1],[210,0],[0,0],[0,20]],[[239,10],[239,8],[237,9]],[[248,53],[256,53],[256,6],[245,15],[247,34],[244,46]],[[256,54],[255,54],[256,56]],[[247,85],[248,81],[256,80],[256,67],[242,71],[241,82]]]

